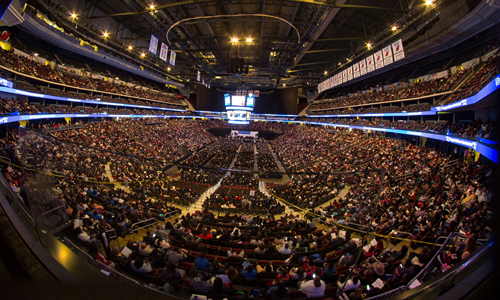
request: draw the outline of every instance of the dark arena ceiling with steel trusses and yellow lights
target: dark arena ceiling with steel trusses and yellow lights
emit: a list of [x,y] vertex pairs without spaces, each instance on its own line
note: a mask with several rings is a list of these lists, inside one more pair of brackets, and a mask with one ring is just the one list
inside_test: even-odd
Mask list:
[[[121,45],[117,50],[125,55],[147,53],[149,61],[167,71],[168,63],[147,51],[153,34],[160,45],[164,42],[177,52],[169,74],[194,82],[200,71],[212,86],[245,89],[317,85],[349,58],[368,51],[367,44],[385,46],[449,1],[431,5],[424,0],[29,2],[46,8],[57,5],[49,10],[78,22],[77,28],[107,32],[104,42]],[[244,59],[248,73],[227,72],[234,57]]]

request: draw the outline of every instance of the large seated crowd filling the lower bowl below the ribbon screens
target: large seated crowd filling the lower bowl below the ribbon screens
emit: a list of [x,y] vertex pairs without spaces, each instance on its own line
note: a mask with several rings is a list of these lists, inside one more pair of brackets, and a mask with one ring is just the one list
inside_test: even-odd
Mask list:
[[[211,136],[204,130],[210,124],[214,122],[169,120],[147,125],[141,120],[86,124],[51,136],[24,131],[19,141],[21,164],[58,176],[21,173],[8,164],[3,173],[38,214],[43,207],[37,198],[24,195],[40,193],[37,183],[43,182],[43,189],[63,201],[68,215],[78,220],[70,233],[75,239],[94,254],[102,243],[106,259],[115,267],[146,274],[141,280],[172,294],[188,287],[201,294],[229,296],[236,294],[237,285],[248,283],[257,297],[284,298],[299,293],[295,289],[321,297],[342,289],[345,297],[358,299],[408,284],[436,251],[390,251],[382,239],[363,247],[362,240],[351,238],[351,230],[336,224],[370,226],[395,241],[409,232],[416,245],[460,230],[468,239],[446,254],[448,265],[466,258],[478,239],[490,236],[489,201],[496,181],[492,169],[470,153],[452,161],[432,149],[357,131],[280,124],[286,134],[270,144],[296,174],[291,182],[270,190],[310,208],[308,216],[323,217],[331,226],[317,229],[318,220],[300,215],[268,215],[267,210],[277,213],[283,206],[256,186],[228,188],[256,184],[252,176],[233,174],[223,180],[228,186],[221,185],[208,201],[221,208],[241,205],[239,212],[215,218],[212,209],[205,209],[176,216],[140,244],[129,241],[130,255],[106,243],[112,229],[126,235],[135,229],[133,224],[165,221],[179,212],[172,203],[191,203],[208,187],[196,181],[208,180],[210,171],[191,173],[185,167],[181,180],[176,180],[166,173],[169,162],[192,153],[191,157],[201,155],[193,161],[205,166],[229,166],[241,142]],[[3,149],[15,164],[18,139],[17,132],[9,132]],[[202,155],[207,148],[210,153]],[[222,176],[219,172],[213,177]],[[348,192],[335,200],[344,187]],[[250,196],[252,190],[255,194]],[[330,205],[315,209],[324,202]],[[248,214],[252,207],[259,207],[260,212],[254,212],[260,216]],[[179,269],[188,276],[192,271],[193,280],[183,278]],[[347,274],[353,276],[343,276]]]

